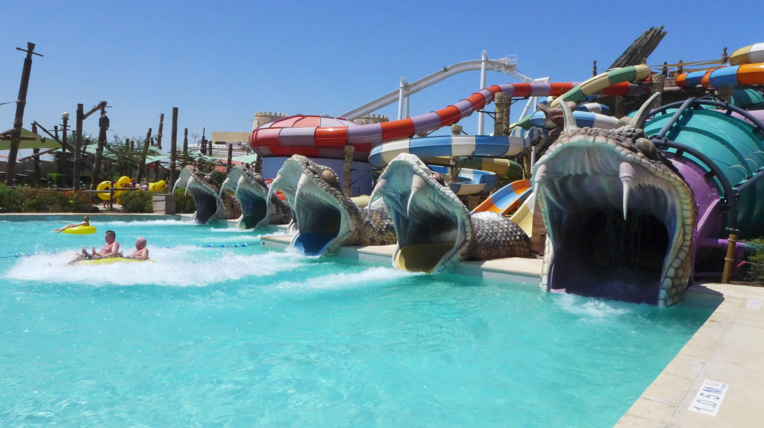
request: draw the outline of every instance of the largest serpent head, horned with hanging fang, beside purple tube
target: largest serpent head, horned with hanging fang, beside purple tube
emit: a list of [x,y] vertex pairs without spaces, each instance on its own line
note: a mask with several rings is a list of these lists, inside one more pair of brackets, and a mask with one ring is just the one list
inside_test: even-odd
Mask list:
[[[654,99],[615,130],[578,128],[568,105],[561,104],[564,130],[533,168],[549,233],[543,290],[595,295],[589,290],[602,283],[610,287],[602,288],[607,298],[659,307],[681,301],[694,259],[697,208],[685,180],[643,132]],[[602,223],[587,229],[595,216]]]

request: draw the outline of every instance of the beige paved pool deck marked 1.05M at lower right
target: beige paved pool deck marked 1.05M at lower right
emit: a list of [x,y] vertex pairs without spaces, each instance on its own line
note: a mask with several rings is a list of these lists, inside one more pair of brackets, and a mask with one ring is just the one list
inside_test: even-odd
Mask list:
[[[764,301],[764,288],[692,285],[686,300],[720,303],[613,428],[756,426],[764,418],[764,407],[746,402],[750,392],[764,391],[764,314],[746,308]],[[730,385],[715,417],[689,410],[704,380]]]

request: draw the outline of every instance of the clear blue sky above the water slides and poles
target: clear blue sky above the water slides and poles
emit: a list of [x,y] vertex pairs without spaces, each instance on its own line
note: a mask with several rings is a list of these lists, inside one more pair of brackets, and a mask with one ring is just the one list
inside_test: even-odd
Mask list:
[[[189,133],[248,131],[255,111],[342,114],[442,66],[519,56],[555,82],[607,67],[650,26],[669,34],[649,63],[710,60],[764,41],[764,2],[36,2],[5,0],[0,102],[12,101],[24,53],[37,43],[24,127],[106,100],[112,129],[156,132],[180,108]],[[413,95],[411,115],[478,90],[465,72]],[[516,82],[496,72],[488,84]],[[520,108],[513,110],[513,117]],[[0,127],[15,105],[0,106]],[[397,116],[397,105],[377,113]],[[474,133],[477,115],[463,123]],[[490,130],[490,119],[487,129]],[[86,121],[97,134],[97,119]]]

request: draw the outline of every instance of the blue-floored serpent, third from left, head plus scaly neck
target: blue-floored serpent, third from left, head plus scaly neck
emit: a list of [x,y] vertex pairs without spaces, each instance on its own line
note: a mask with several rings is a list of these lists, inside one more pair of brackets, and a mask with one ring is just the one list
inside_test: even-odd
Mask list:
[[[384,204],[358,208],[339,188],[337,174],[305,156],[287,159],[270,185],[271,196],[282,191],[293,208],[296,235],[293,246],[312,240],[311,256],[331,256],[342,246],[389,245],[395,227]],[[336,234],[335,234],[336,233]]]

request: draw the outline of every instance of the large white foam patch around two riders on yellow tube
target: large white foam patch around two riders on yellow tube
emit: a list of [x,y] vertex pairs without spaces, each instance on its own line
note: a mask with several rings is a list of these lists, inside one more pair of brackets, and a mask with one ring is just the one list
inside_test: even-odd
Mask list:
[[[222,251],[225,251],[221,249]],[[248,276],[274,275],[304,265],[293,253],[241,255],[210,254],[195,246],[151,248],[151,262],[121,262],[108,265],[66,265],[75,252],[37,254],[21,259],[6,274],[23,281],[86,285],[204,286]]]

